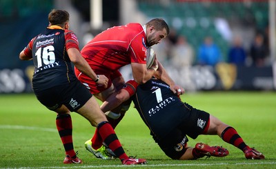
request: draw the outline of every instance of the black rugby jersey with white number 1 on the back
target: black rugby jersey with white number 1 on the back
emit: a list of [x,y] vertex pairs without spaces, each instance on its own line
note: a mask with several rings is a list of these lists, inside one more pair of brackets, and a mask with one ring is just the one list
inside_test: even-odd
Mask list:
[[190,115],[185,111],[184,103],[170,90],[170,86],[157,79],[139,85],[132,101],[150,129],[150,135],[159,139]]

